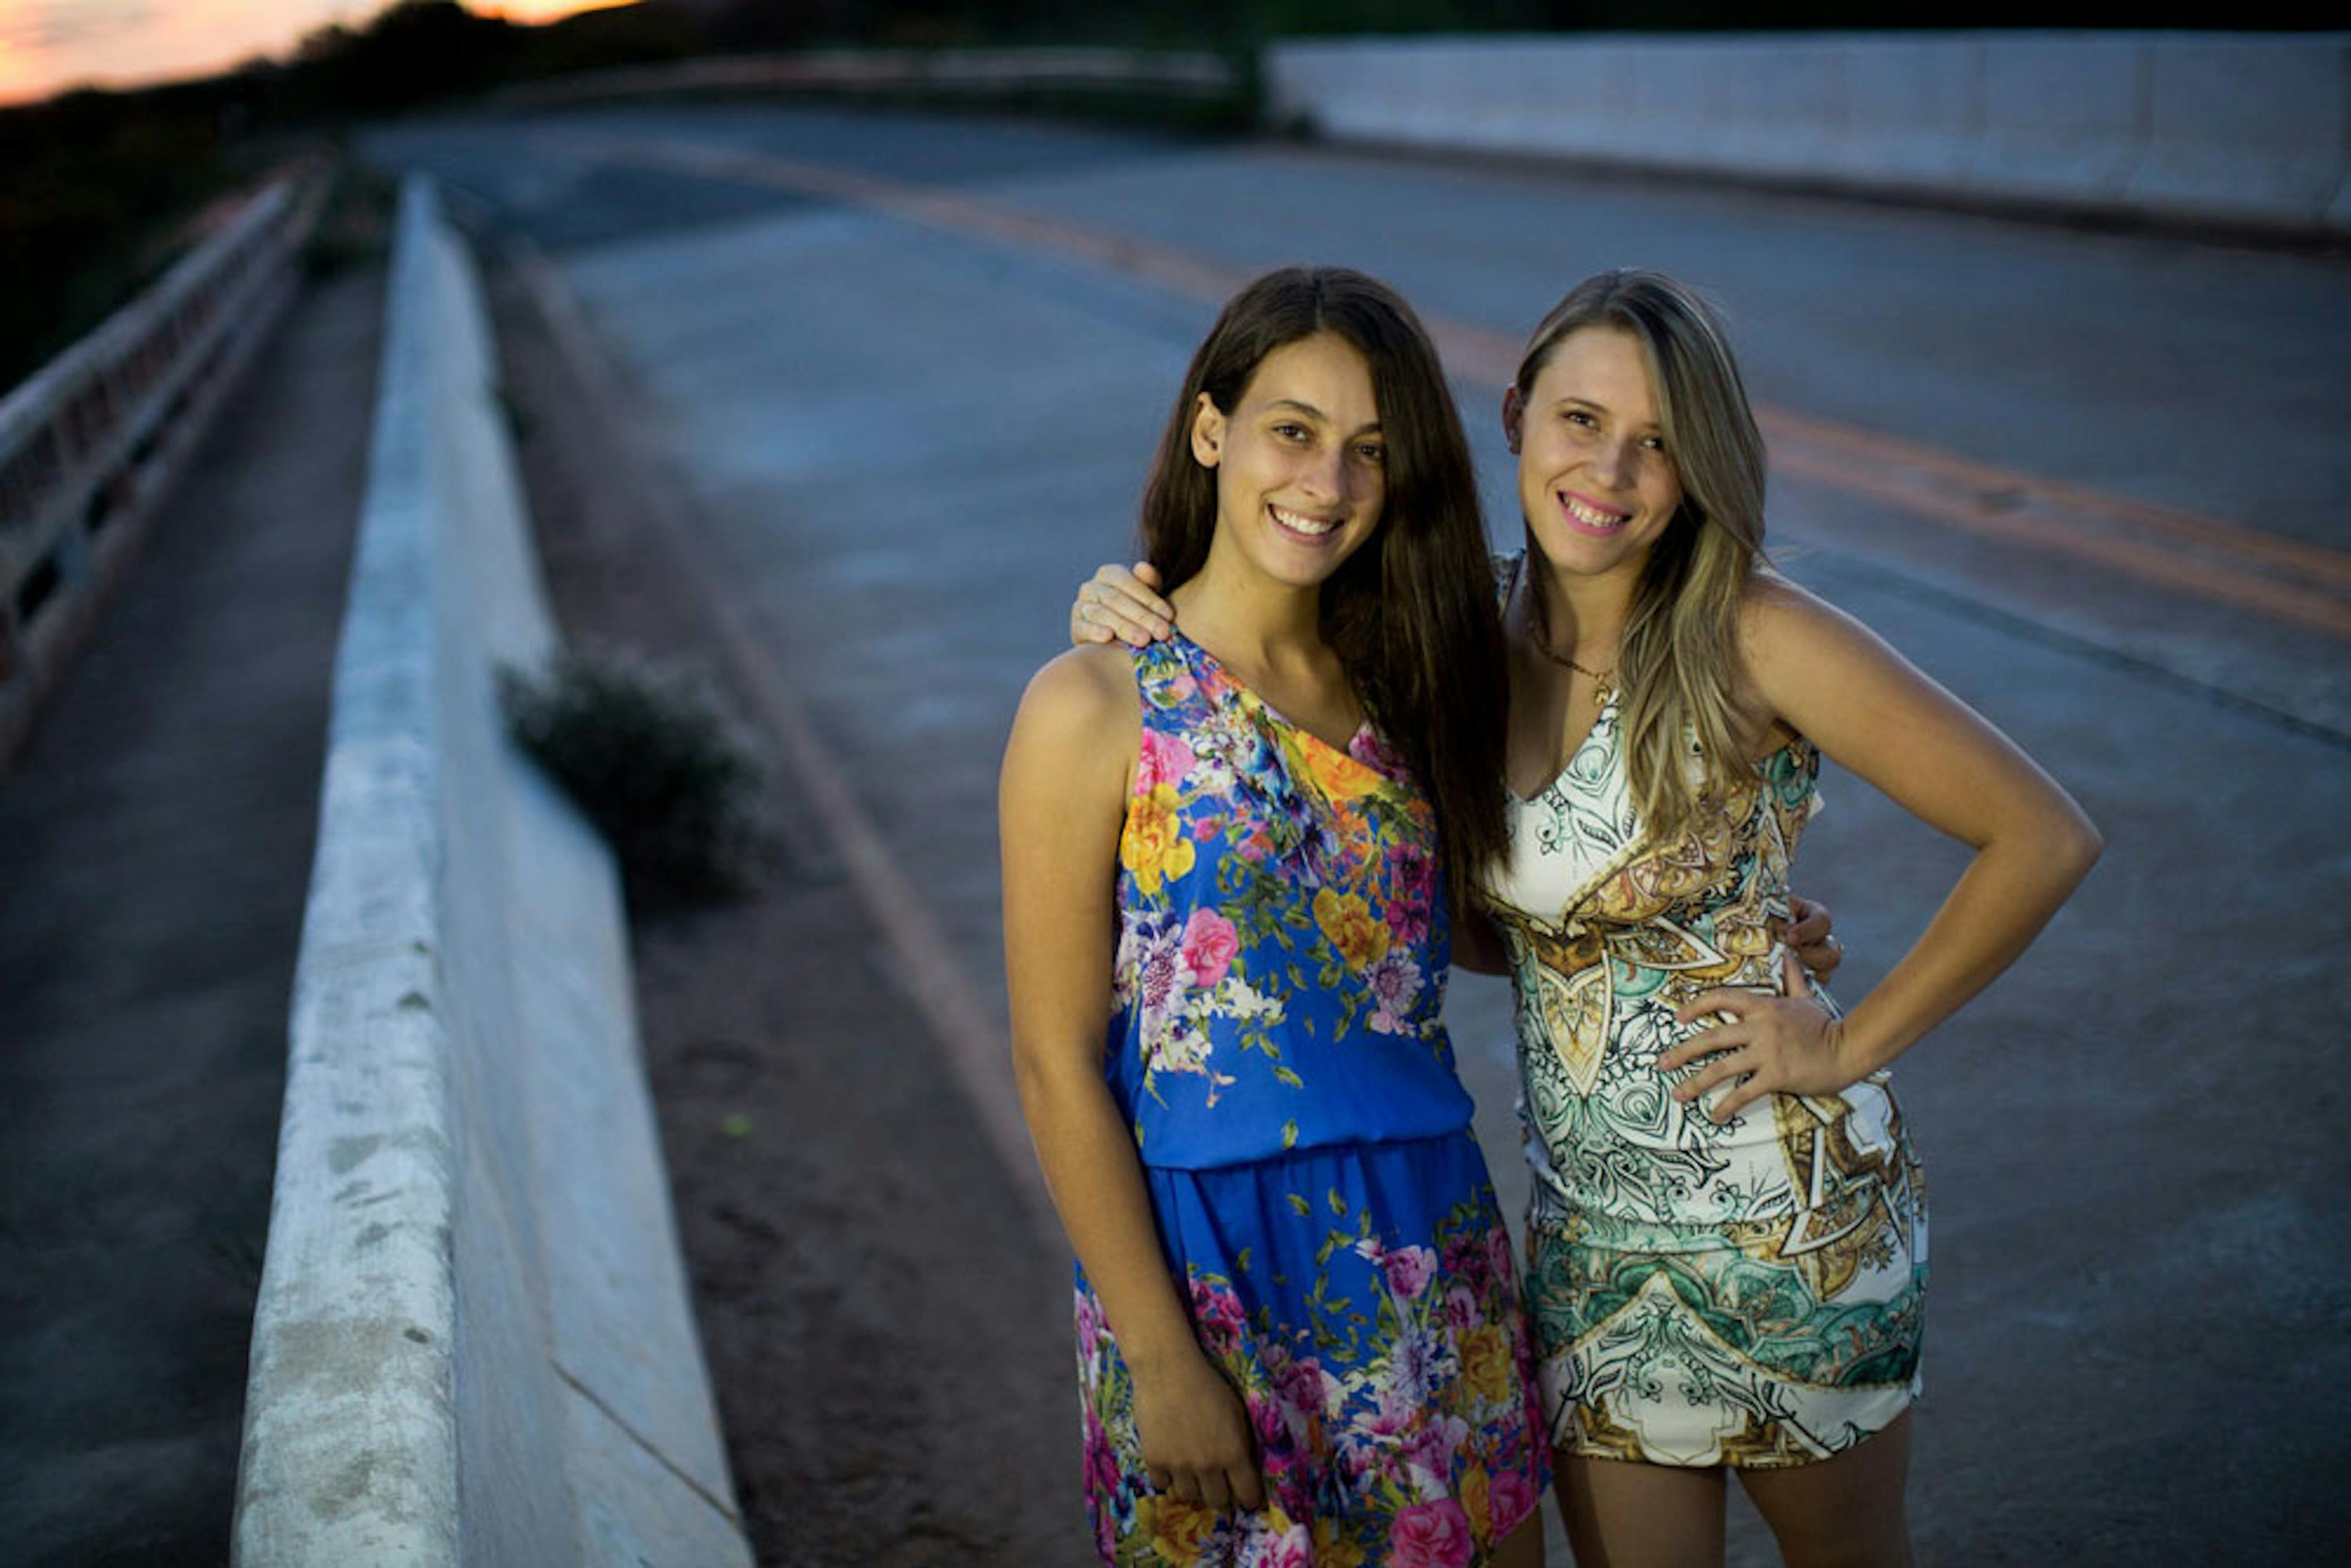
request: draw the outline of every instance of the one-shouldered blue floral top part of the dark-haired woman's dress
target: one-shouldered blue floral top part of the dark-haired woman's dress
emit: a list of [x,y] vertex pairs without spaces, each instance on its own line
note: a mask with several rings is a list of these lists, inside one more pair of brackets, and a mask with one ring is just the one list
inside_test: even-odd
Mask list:
[[[1107,1060],[1145,1159],[1467,1126],[1436,816],[1401,757],[1371,724],[1345,750],[1293,726],[1180,635],[1136,682]],[[1312,1093],[1324,1072],[1349,1093]]]

